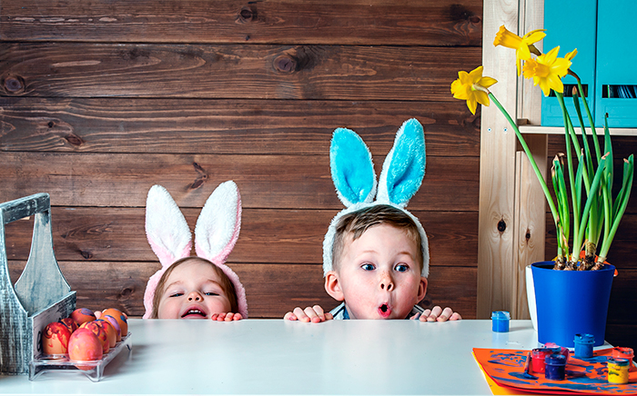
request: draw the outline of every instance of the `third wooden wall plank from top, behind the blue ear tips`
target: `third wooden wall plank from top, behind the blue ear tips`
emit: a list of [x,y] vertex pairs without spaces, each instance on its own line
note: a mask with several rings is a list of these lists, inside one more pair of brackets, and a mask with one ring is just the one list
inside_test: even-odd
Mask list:
[[325,155],[346,126],[389,153],[409,118],[425,129],[428,157],[480,155],[480,119],[460,101],[0,97],[0,150]]

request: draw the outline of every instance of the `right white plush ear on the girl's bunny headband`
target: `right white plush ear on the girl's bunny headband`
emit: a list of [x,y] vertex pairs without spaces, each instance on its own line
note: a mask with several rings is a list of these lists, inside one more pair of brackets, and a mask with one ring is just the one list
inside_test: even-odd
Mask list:
[[215,264],[226,262],[241,229],[241,196],[232,181],[210,194],[195,227],[195,250]]

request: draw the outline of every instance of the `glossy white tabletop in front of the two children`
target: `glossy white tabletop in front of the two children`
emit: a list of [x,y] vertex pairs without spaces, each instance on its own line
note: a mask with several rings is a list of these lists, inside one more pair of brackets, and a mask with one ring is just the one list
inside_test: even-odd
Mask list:
[[[491,394],[471,349],[536,348],[531,321],[129,322],[133,350],[99,382],[0,376],[20,394]],[[607,345],[608,346],[608,345]]]

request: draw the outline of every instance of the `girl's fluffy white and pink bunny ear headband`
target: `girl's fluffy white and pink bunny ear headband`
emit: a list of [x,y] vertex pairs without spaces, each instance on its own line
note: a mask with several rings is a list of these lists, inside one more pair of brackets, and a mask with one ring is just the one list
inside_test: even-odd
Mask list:
[[[224,262],[238,240],[241,228],[241,196],[237,184],[221,183],[210,194],[195,227],[195,250],[197,256],[213,262],[235,285],[238,312],[248,318],[246,290],[238,275]],[[146,202],[146,234],[148,243],[157,254],[161,269],[148,279],[144,292],[144,319],[150,317],[157,283],[168,267],[178,259],[189,257],[192,249],[192,234],[183,213],[170,193],[161,185],[148,191]]]

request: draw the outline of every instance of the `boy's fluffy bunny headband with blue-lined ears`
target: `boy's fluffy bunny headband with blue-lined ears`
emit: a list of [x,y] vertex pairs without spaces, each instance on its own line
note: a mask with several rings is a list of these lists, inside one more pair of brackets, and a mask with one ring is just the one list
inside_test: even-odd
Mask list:
[[332,219],[325,234],[323,274],[332,271],[332,248],[339,219],[363,208],[389,204],[407,213],[416,223],[422,250],[421,276],[428,276],[430,252],[427,233],[418,218],[405,210],[425,175],[425,135],[418,120],[411,118],[400,126],[394,146],[382,165],[378,183],[369,148],[358,134],[347,128],[334,131],[329,147],[329,166],[339,199],[346,209]]

